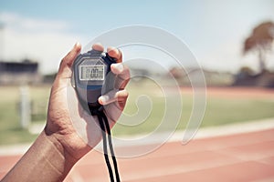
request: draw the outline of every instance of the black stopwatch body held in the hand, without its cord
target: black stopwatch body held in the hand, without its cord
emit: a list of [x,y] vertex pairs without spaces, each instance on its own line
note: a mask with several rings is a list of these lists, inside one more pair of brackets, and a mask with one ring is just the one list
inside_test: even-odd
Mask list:
[[80,54],[75,59],[72,86],[79,103],[88,112],[100,107],[98,98],[114,88],[115,76],[111,72],[113,63],[116,63],[116,59],[97,50]]

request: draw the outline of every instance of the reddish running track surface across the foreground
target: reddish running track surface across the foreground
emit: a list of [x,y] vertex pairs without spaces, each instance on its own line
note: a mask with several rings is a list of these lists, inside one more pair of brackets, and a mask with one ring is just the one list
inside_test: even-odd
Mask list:
[[[0,178],[19,157],[0,157]],[[274,181],[274,129],[195,139],[187,145],[169,142],[142,157],[118,158],[118,164],[121,181],[130,182]],[[90,152],[65,181],[110,181],[103,156]]]

